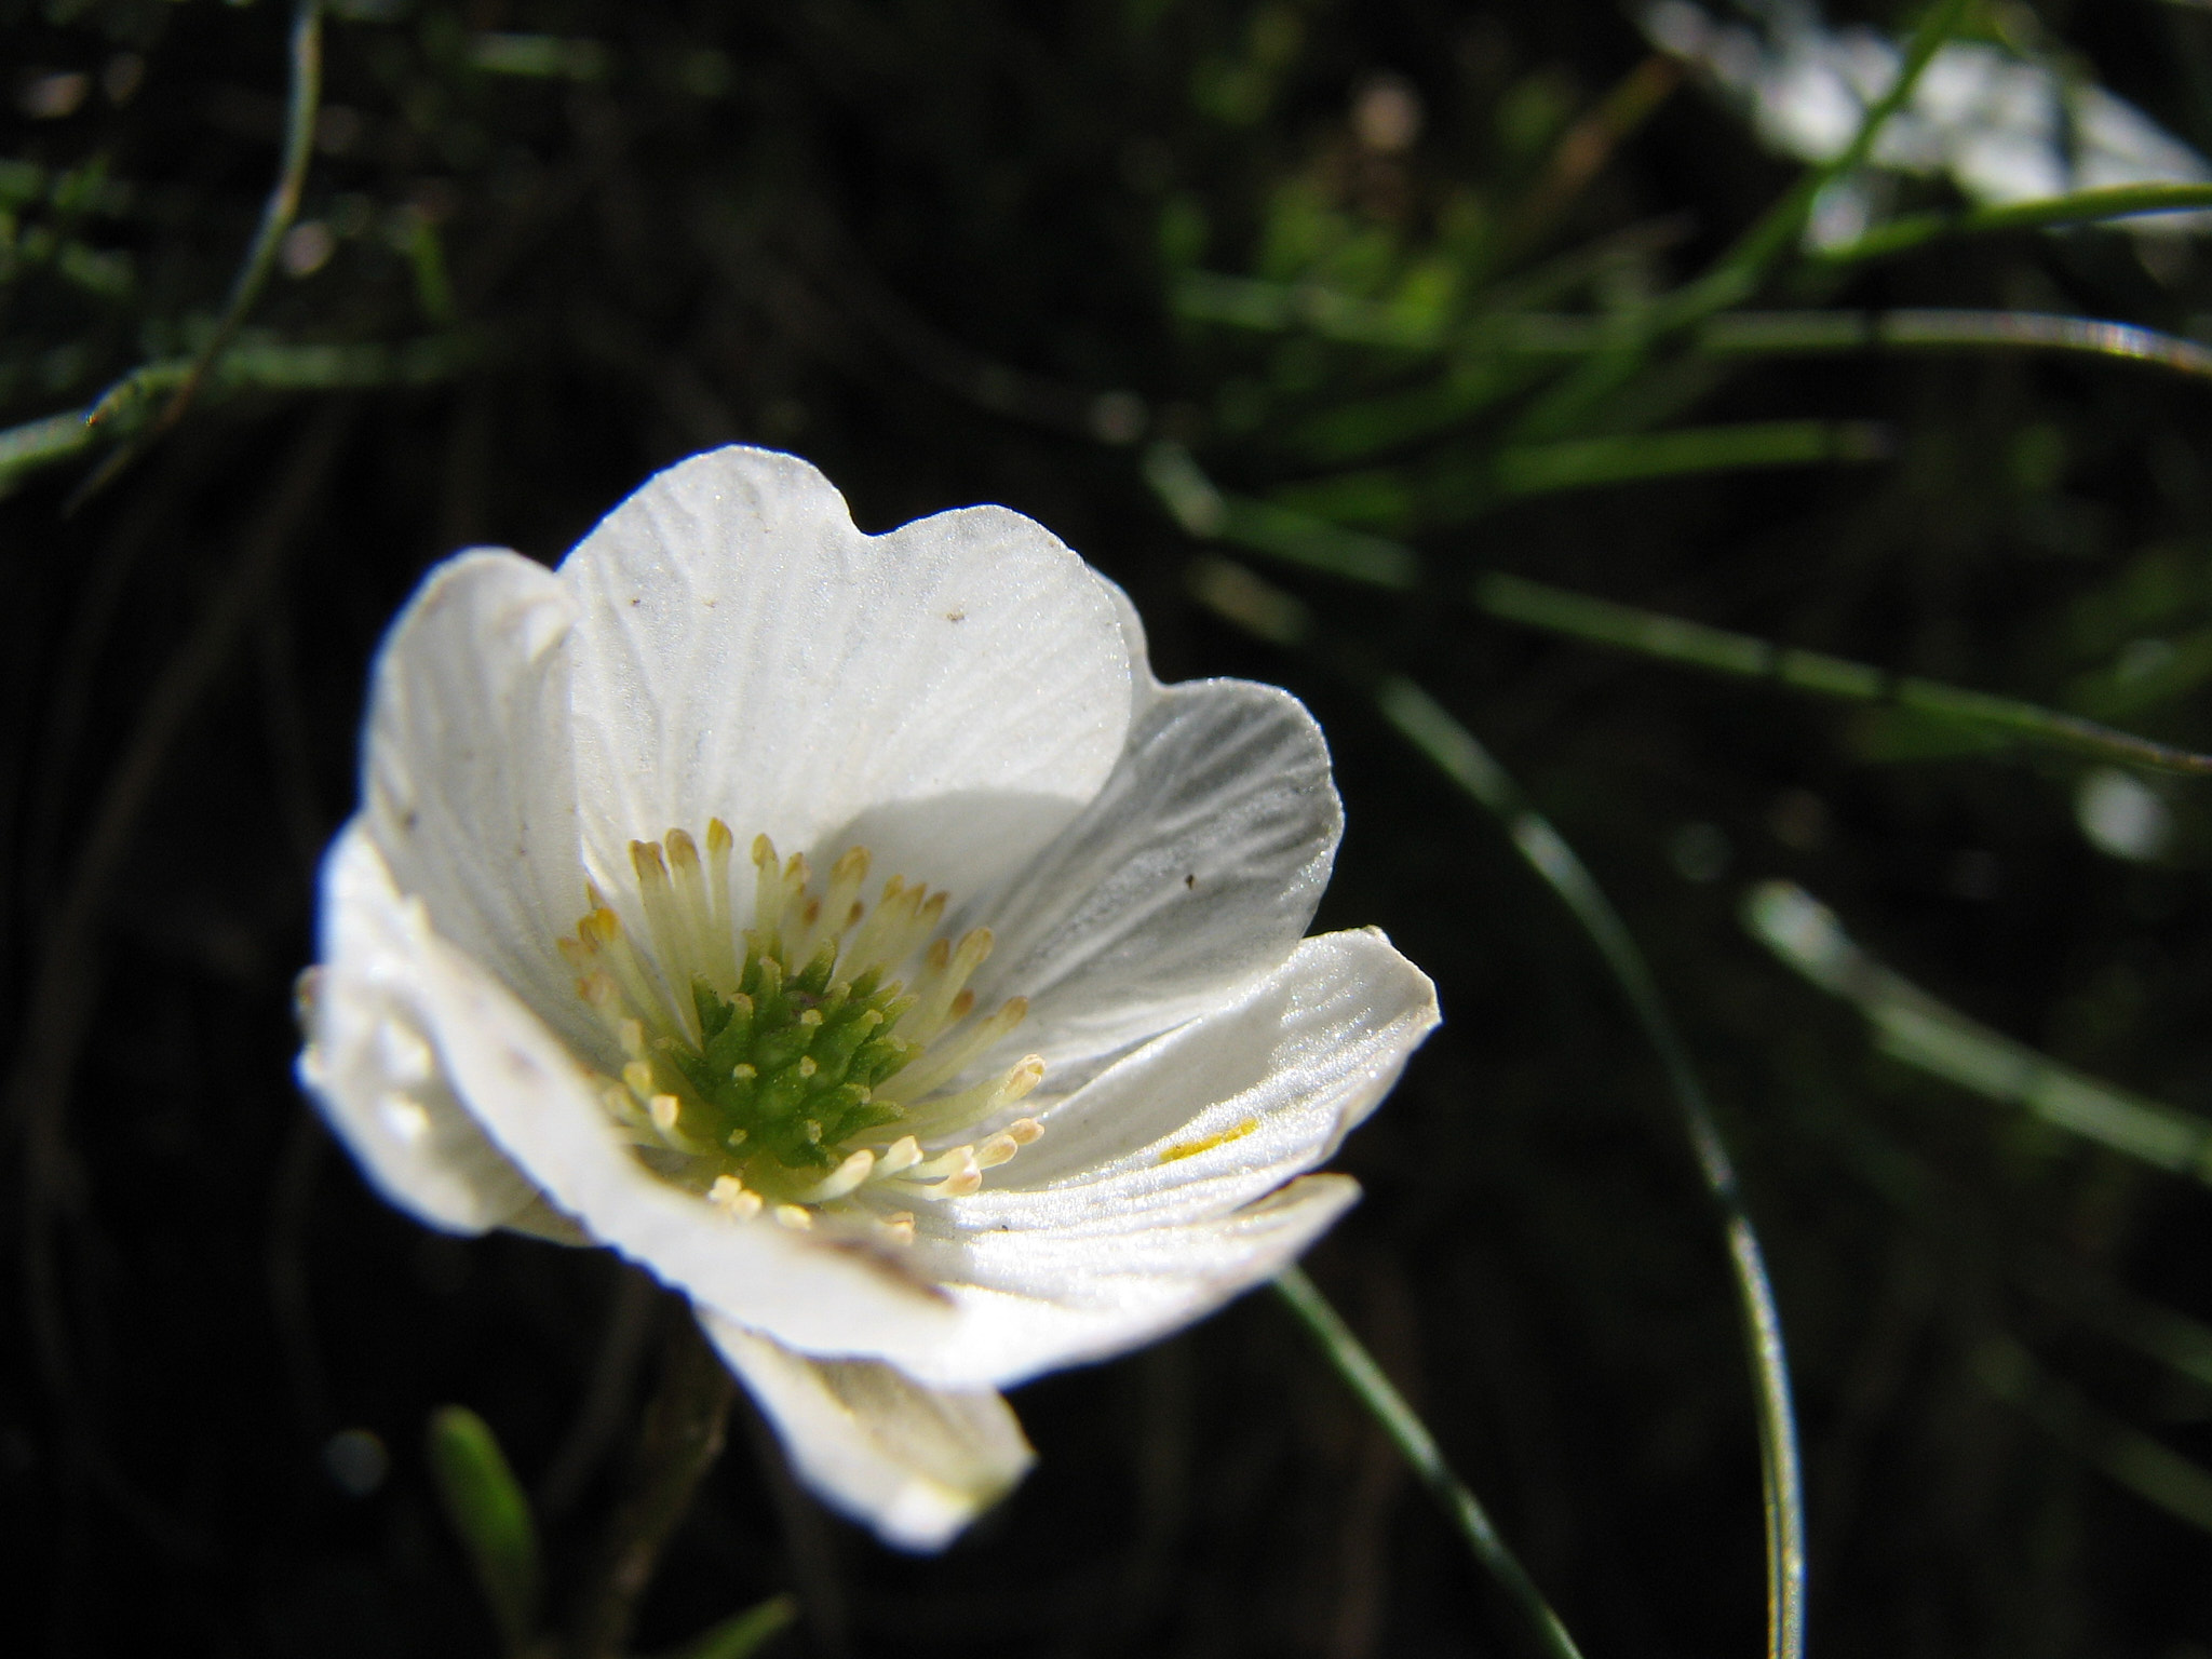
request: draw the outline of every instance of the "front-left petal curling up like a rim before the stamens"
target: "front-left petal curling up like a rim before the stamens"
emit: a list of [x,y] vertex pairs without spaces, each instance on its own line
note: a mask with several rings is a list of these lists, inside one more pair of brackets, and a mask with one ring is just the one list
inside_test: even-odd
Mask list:
[[[951,1327],[949,1298],[898,1265],[765,1217],[732,1219],[648,1172],[608,1124],[593,1077],[495,975],[438,938],[414,900],[396,898],[385,914],[378,984],[411,998],[451,1095],[591,1239],[695,1303],[810,1352],[896,1354]],[[352,1117],[338,1126],[374,1157]]]

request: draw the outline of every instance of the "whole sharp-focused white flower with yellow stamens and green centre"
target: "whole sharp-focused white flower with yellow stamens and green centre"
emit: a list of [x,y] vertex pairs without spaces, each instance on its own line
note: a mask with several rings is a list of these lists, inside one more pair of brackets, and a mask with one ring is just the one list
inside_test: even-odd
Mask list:
[[681,1290],[801,1473],[933,1548],[995,1389],[1170,1332],[1356,1197],[1307,1175],[1436,1024],[1314,721],[1161,686],[998,507],[860,535],[805,462],[653,478],[560,571],[438,566],[376,661],[301,1077],[453,1232]]

